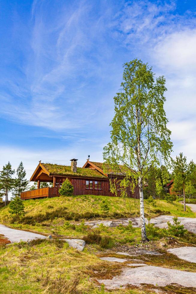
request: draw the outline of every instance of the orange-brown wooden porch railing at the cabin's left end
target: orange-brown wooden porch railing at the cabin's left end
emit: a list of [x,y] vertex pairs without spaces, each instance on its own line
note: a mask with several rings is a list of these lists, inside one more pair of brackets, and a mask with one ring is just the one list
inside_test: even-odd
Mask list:
[[40,188],[40,189],[22,192],[20,195],[20,198],[22,200],[26,200],[26,199],[32,199],[32,198],[56,197],[56,196],[59,196],[58,188],[46,187],[46,188]]

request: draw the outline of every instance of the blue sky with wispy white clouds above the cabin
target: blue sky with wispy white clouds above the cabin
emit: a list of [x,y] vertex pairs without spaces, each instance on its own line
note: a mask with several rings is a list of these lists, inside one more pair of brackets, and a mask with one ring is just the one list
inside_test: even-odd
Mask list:
[[0,168],[102,161],[123,63],[167,81],[175,156],[196,161],[195,1],[0,1]]

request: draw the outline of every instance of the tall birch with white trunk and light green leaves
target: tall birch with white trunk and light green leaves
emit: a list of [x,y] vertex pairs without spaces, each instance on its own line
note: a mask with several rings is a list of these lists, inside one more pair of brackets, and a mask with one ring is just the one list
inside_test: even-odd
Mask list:
[[167,161],[172,149],[163,108],[167,89],[165,78],[155,79],[152,68],[141,60],[135,59],[123,67],[121,89],[114,97],[111,142],[104,147],[103,158],[114,170],[123,164],[127,182],[132,179],[132,183],[138,183],[141,239],[146,242],[143,182],[149,168],[159,166],[160,160]]

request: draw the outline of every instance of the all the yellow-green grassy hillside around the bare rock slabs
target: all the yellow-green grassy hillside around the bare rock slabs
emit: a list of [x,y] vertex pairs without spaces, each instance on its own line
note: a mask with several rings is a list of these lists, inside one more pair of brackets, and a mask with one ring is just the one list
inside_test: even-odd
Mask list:
[[[122,265],[100,260],[100,254],[117,255],[130,246],[141,246],[140,228],[108,228],[102,225],[98,229],[85,226],[84,219],[114,219],[139,216],[139,200],[107,196],[74,196],[65,198],[45,198],[25,200],[25,215],[18,219],[9,214],[9,206],[0,208],[0,223],[7,226],[26,229],[42,234],[52,234],[52,240],[35,240],[30,244],[20,242],[5,247],[0,244],[0,292],[4,293],[108,293],[103,286],[94,282],[94,278],[108,277],[120,273]],[[160,214],[196,217],[188,207],[178,202],[167,203],[156,200],[155,205],[145,200],[145,214],[155,217]],[[79,225],[76,225],[79,224]],[[162,229],[147,227],[148,237],[152,240],[144,248],[159,247],[159,239],[164,238]],[[83,252],[69,248],[62,238],[82,238],[87,242]],[[2,237],[1,237],[2,238]],[[187,239],[189,238],[189,240]],[[195,236],[177,238],[175,242],[190,241]],[[164,239],[168,242],[168,238]],[[158,242],[158,243],[156,243]],[[158,244],[158,245],[156,245]],[[179,243],[183,244],[183,243]],[[147,247],[146,247],[147,246]],[[112,250],[112,251],[111,251]],[[114,255],[112,255],[114,254]],[[167,251],[156,260],[147,260],[150,265],[162,265],[177,269],[196,271],[194,264],[173,259]],[[130,257],[130,258],[134,258]],[[149,257],[150,258],[150,257]],[[150,291],[148,291],[151,293]],[[147,293],[142,289],[120,289],[115,294]],[[168,292],[169,293],[169,292]],[[192,292],[190,292],[192,293]]]

